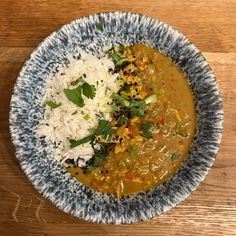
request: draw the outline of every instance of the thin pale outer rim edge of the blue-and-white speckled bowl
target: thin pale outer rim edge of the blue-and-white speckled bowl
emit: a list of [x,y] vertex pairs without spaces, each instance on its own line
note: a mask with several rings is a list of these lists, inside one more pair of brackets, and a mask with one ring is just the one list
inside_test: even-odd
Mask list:
[[[203,60],[207,63],[208,67],[209,67],[209,71],[210,73],[213,75],[213,77],[215,78],[215,75],[212,71],[212,68],[210,67],[210,65],[208,64],[206,58],[204,57],[204,55],[197,49],[197,47],[191,42],[189,41],[181,32],[177,31],[173,26],[169,25],[169,24],[166,24],[164,23],[163,21],[160,21],[158,19],[155,19],[153,17],[150,17],[150,16],[146,16],[146,15],[143,15],[143,14],[140,14],[140,13],[133,13],[133,12],[126,12],[126,11],[111,11],[111,12],[99,12],[99,13],[95,13],[95,14],[89,14],[89,15],[86,15],[86,16],[82,16],[78,19],[75,19],[63,26],[61,26],[59,29],[53,31],[49,36],[47,36],[46,38],[43,39],[43,41],[41,41],[37,47],[35,47],[35,49],[30,53],[28,59],[25,61],[25,63],[23,64],[20,72],[19,72],[19,75],[17,76],[17,79],[16,79],[16,82],[15,82],[15,85],[14,85],[14,89],[13,89],[13,93],[12,93],[12,97],[11,97],[11,101],[10,101],[10,112],[9,112],[9,128],[10,128],[10,134],[11,134],[11,140],[12,140],[12,143],[14,145],[14,148],[15,148],[15,153],[16,153],[16,158],[19,160],[20,162],[20,165],[21,165],[21,168],[23,170],[23,172],[26,174],[26,176],[28,177],[28,179],[30,180],[30,182],[34,185],[34,187],[40,192],[43,194],[43,196],[45,198],[49,198],[49,200],[54,204],[56,205],[58,208],[60,208],[61,210],[63,210],[64,212],[67,212],[67,213],[70,213],[74,216],[78,216],[76,214],[74,214],[73,212],[65,209],[65,207],[63,205],[61,205],[59,202],[55,202],[54,200],[52,200],[49,195],[47,193],[45,193],[38,185],[37,183],[29,176],[29,172],[27,171],[27,169],[25,167],[22,166],[22,163],[21,163],[21,157],[19,155],[19,153],[17,152],[17,143],[16,143],[16,140],[14,138],[14,132],[15,132],[15,125],[14,125],[14,122],[13,122],[13,107],[14,107],[14,98],[17,97],[17,93],[16,93],[16,90],[17,90],[17,87],[19,86],[19,83],[20,81],[24,78],[24,74],[25,74],[25,71],[27,69],[28,66],[30,66],[30,63],[31,61],[34,59],[35,55],[37,55],[37,52],[39,51],[39,49],[41,47],[43,47],[44,44],[47,44],[50,40],[52,40],[58,32],[62,32],[63,30],[66,30],[70,25],[72,24],[79,24],[81,21],[83,21],[84,19],[88,19],[89,17],[95,17],[95,16],[101,16],[101,15],[113,15],[113,14],[118,14],[118,15],[123,15],[124,17],[127,17],[127,15],[136,15],[136,16],[139,16],[139,17],[143,17],[143,18],[147,18],[149,20],[154,20],[154,21],[158,21],[160,22],[161,24],[163,24],[165,27],[167,27],[168,29],[170,30],[173,30],[174,32],[177,32],[178,35],[180,35],[181,38],[183,38],[184,40],[187,40],[187,42],[190,43],[190,45],[193,47],[193,49],[200,54],[200,57],[203,58]],[[220,127],[220,131],[218,133],[218,147],[215,147],[215,154],[214,154],[214,158],[212,159],[211,163],[209,163],[210,165],[206,168],[206,170],[204,172],[201,173],[201,176],[200,178],[198,178],[197,180],[197,183],[194,184],[194,187],[191,186],[189,191],[187,193],[183,193],[181,196],[180,196],[180,200],[178,200],[177,202],[171,202],[171,203],[168,203],[168,206],[161,209],[160,211],[160,214],[162,213],[165,213],[167,212],[168,210],[170,210],[171,208],[175,207],[177,204],[181,203],[182,201],[184,201],[189,195],[191,195],[191,193],[193,191],[196,190],[196,188],[200,185],[200,183],[205,179],[206,175],[208,174],[211,166],[213,165],[214,163],[214,160],[216,158],[216,154],[217,152],[219,151],[219,145],[220,145],[220,142],[221,142],[221,139],[222,139],[222,133],[223,133],[223,123],[224,123],[224,113],[223,113],[223,102],[222,102],[222,98],[221,98],[221,94],[220,94],[220,90],[219,90],[219,86],[218,86],[218,82],[217,80],[215,79],[215,86],[219,92],[218,94],[218,99],[219,99],[219,102],[221,104],[221,108],[218,110],[218,112],[221,114],[221,119],[219,118],[219,120],[217,121],[218,122],[218,126]],[[169,180],[168,180],[169,181]],[[123,223],[134,223],[134,222],[138,222],[138,221],[146,221],[146,220],[149,220],[153,217],[156,217],[156,216],[159,216],[160,214],[154,214],[152,216],[141,216],[140,218],[136,218],[136,219],[132,219],[131,221],[127,221],[126,219],[117,219],[114,218],[112,220],[112,222],[106,222],[104,221],[103,219],[94,219],[93,217],[80,217],[82,219],[85,219],[85,220],[88,220],[88,221],[92,221],[92,222],[97,222],[97,223],[115,223],[115,224],[123,224]]]

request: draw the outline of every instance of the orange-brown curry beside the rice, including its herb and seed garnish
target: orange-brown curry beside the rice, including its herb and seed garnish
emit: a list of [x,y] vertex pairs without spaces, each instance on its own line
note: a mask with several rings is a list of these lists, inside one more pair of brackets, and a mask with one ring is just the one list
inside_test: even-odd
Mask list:
[[108,55],[120,90],[112,95],[112,121],[99,123],[107,125],[110,138],[95,131],[106,155],[97,155],[87,168],[67,170],[120,198],[160,185],[180,168],[195,134],[196,112],[187,80],[168,57],[141,44],[121,45]]

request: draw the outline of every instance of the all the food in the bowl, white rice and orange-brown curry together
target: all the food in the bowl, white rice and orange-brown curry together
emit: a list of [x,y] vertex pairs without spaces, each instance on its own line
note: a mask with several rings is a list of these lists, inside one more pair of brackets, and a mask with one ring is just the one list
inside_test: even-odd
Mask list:
[[196,131],[183,73],[144,44],[80,50],[47,81],[42,103],[38,133],[55,158],[80,182],[118,198],[169,179]]

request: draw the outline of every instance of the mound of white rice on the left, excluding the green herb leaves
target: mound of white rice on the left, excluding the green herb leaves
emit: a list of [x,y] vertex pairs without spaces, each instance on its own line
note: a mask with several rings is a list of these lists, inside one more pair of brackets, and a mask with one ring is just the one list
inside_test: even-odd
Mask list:
[[[107,103],[111,101],[111,94],[118,90],[115,82],[118,74],[109,72],[109,69],[114,70],[114,63],[106,56],[99,59],[82,50],[80,53],[79,60],[69,57],[68,67],[61,67],[57,74],[47,80],[42,105],[49,100],[61,102],[62,105],[54,109],[45,106],[44,119],[37,131],[40,136],[45,136],[46,141],[55,144],[54,156],[57,160],[64,163],[68,158],[74,159],[83,167],[93,156],[93,148],[85,143],[71,149],[69,139],[79,140],[89,135],[89,129],[98,125],[101,112],[104,113],[104,119],[110,120]],[[96,95],[93,99],[82,95],[85,105],[81,108],[69,101],[63,90],[82,84],[72,86],[71,82],[83,74],[86,74],[84,81],[96,87]],[[89,115],[90,119],[85,120],[85,115]]]

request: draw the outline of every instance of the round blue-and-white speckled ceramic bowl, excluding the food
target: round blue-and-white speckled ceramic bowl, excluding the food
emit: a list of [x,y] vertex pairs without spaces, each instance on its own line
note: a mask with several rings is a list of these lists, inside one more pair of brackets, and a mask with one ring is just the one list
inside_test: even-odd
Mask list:
[[[96,28],[103,23],[104,32]],[[201,32],[199,32],[201,33]],[[146,43],[181,68],[194,91],[197,134],[187,161],[165,184],[121,198],[95,192],[54,160],[52,144],[36,135],[43,117],[45,81],[78,47],[97,52],[115,43]],[[63,211],[97,223],[151,219],[183,201],[215,160],[223,129],[223,108],[215,76],[199,50],[169,25],[133,13],[101,13],[75,20],[47,37],[24,64],[11,100],[10,131],[16,157],[35,188]]]

